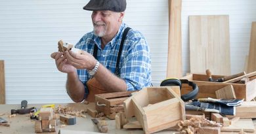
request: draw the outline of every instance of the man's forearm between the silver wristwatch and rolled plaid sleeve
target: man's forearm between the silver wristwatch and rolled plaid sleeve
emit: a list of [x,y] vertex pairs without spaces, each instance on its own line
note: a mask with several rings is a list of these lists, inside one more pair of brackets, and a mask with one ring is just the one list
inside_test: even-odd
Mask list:
[[118,78],[116,75],[108,71],[106,67],[100,64],[95,78],[108,90],[109,92],[126,91],[127,85],[125,80]]

